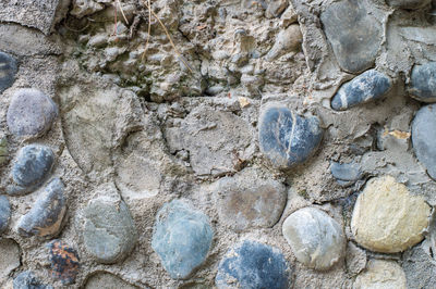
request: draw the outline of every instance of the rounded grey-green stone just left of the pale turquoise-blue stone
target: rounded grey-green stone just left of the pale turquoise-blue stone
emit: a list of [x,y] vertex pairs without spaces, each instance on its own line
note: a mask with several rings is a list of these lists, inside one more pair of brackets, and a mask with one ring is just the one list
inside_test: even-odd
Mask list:
[[83,211],[86,251],[97,261],[111,264],[125,259],[137,241],[137,231],[128,205],[100,197]]

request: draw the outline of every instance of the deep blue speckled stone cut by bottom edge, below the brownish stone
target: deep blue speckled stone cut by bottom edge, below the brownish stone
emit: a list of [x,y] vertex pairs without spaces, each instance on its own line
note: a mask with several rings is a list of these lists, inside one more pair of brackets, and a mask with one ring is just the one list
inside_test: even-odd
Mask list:
[[244,240],[221,260],[215,285],[218,289],[288,289],[290,268],[278,249]]

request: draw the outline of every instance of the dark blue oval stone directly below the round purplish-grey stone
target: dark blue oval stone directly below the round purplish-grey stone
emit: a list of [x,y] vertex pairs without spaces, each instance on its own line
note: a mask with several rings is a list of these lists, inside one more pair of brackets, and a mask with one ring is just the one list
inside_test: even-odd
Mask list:
[[28,144],[20,149],[12,167],[12,178],[17,186],[9,186],[9,194],[28,192],[39,186],[50,174],[55,154],[49,147]]

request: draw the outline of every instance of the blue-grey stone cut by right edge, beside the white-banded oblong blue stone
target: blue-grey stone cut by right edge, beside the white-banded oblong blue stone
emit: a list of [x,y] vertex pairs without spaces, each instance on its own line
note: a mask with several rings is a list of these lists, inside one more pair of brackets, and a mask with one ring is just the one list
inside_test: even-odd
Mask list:
[[415,65],[412,70],[409,92],[423,102],[436,101],[436,62]]

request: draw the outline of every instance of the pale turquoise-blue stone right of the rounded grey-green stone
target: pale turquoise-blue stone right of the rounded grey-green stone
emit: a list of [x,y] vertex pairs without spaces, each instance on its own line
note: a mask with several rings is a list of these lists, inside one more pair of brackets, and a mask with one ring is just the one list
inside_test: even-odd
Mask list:
[[173,200],[157,213],[152,247],[171,278],[184,279],[206,260],[213,237],[205,214]]

